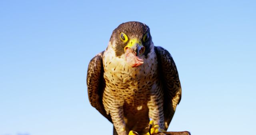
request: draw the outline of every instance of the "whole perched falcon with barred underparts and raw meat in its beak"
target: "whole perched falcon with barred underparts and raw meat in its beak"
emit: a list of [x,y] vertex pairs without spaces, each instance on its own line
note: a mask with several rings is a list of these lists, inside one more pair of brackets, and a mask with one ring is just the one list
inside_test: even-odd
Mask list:
[[181,99],[178,71],[170,53],[154,46],[141,22],[120,24],[105,51],[89,63],[90,104],[113,123],[114,135],[147,133],[150,119],[167,130]]

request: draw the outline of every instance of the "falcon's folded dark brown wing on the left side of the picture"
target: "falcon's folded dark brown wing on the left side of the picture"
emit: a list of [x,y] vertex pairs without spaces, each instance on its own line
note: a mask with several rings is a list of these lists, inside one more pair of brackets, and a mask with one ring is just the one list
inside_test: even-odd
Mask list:
[[104,117],[106,117],[110,122],[112,119],[110,115],[107,115],[103,103],[102,103],[102,95],[104,88],[106,86],[104,78],[103,78],[103,62],[102,56],[104,51],[100,54],[96,55],[89,63],[87,70],[87,89],[88,89],[88,97],[90,104],[95,107]]

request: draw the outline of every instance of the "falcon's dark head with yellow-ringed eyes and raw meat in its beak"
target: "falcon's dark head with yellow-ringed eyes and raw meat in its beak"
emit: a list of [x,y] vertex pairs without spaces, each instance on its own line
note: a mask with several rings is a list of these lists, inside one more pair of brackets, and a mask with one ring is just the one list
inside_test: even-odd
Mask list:
[[129,66],[138,67],[143,64],[143,58],[147,58],[150,52],[152,38],[146,24],[126,22],[113,31],[110,42],[116,57],[124,55],[124,60]]

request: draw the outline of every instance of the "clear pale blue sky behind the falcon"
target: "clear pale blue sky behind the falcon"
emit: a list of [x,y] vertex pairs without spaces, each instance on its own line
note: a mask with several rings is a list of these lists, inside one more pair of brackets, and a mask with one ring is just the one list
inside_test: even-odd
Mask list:
[[173,56],[182,100],[168,131],[252,134],[254,0],[0,1],[0,135],[111,135],[94,109],[87,66],[119,24],[150,27]]

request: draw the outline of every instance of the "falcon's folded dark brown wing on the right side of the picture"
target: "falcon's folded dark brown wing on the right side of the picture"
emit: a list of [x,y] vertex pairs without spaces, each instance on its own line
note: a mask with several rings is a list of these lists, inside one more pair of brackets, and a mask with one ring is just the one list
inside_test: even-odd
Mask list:
[[167,130],[176,110],[176,106],[180,103],[180,79],[170,53],[160,46],[154,49],[158,60],[158,73],[160,73],[164,88],[164,126],[165,130]]

